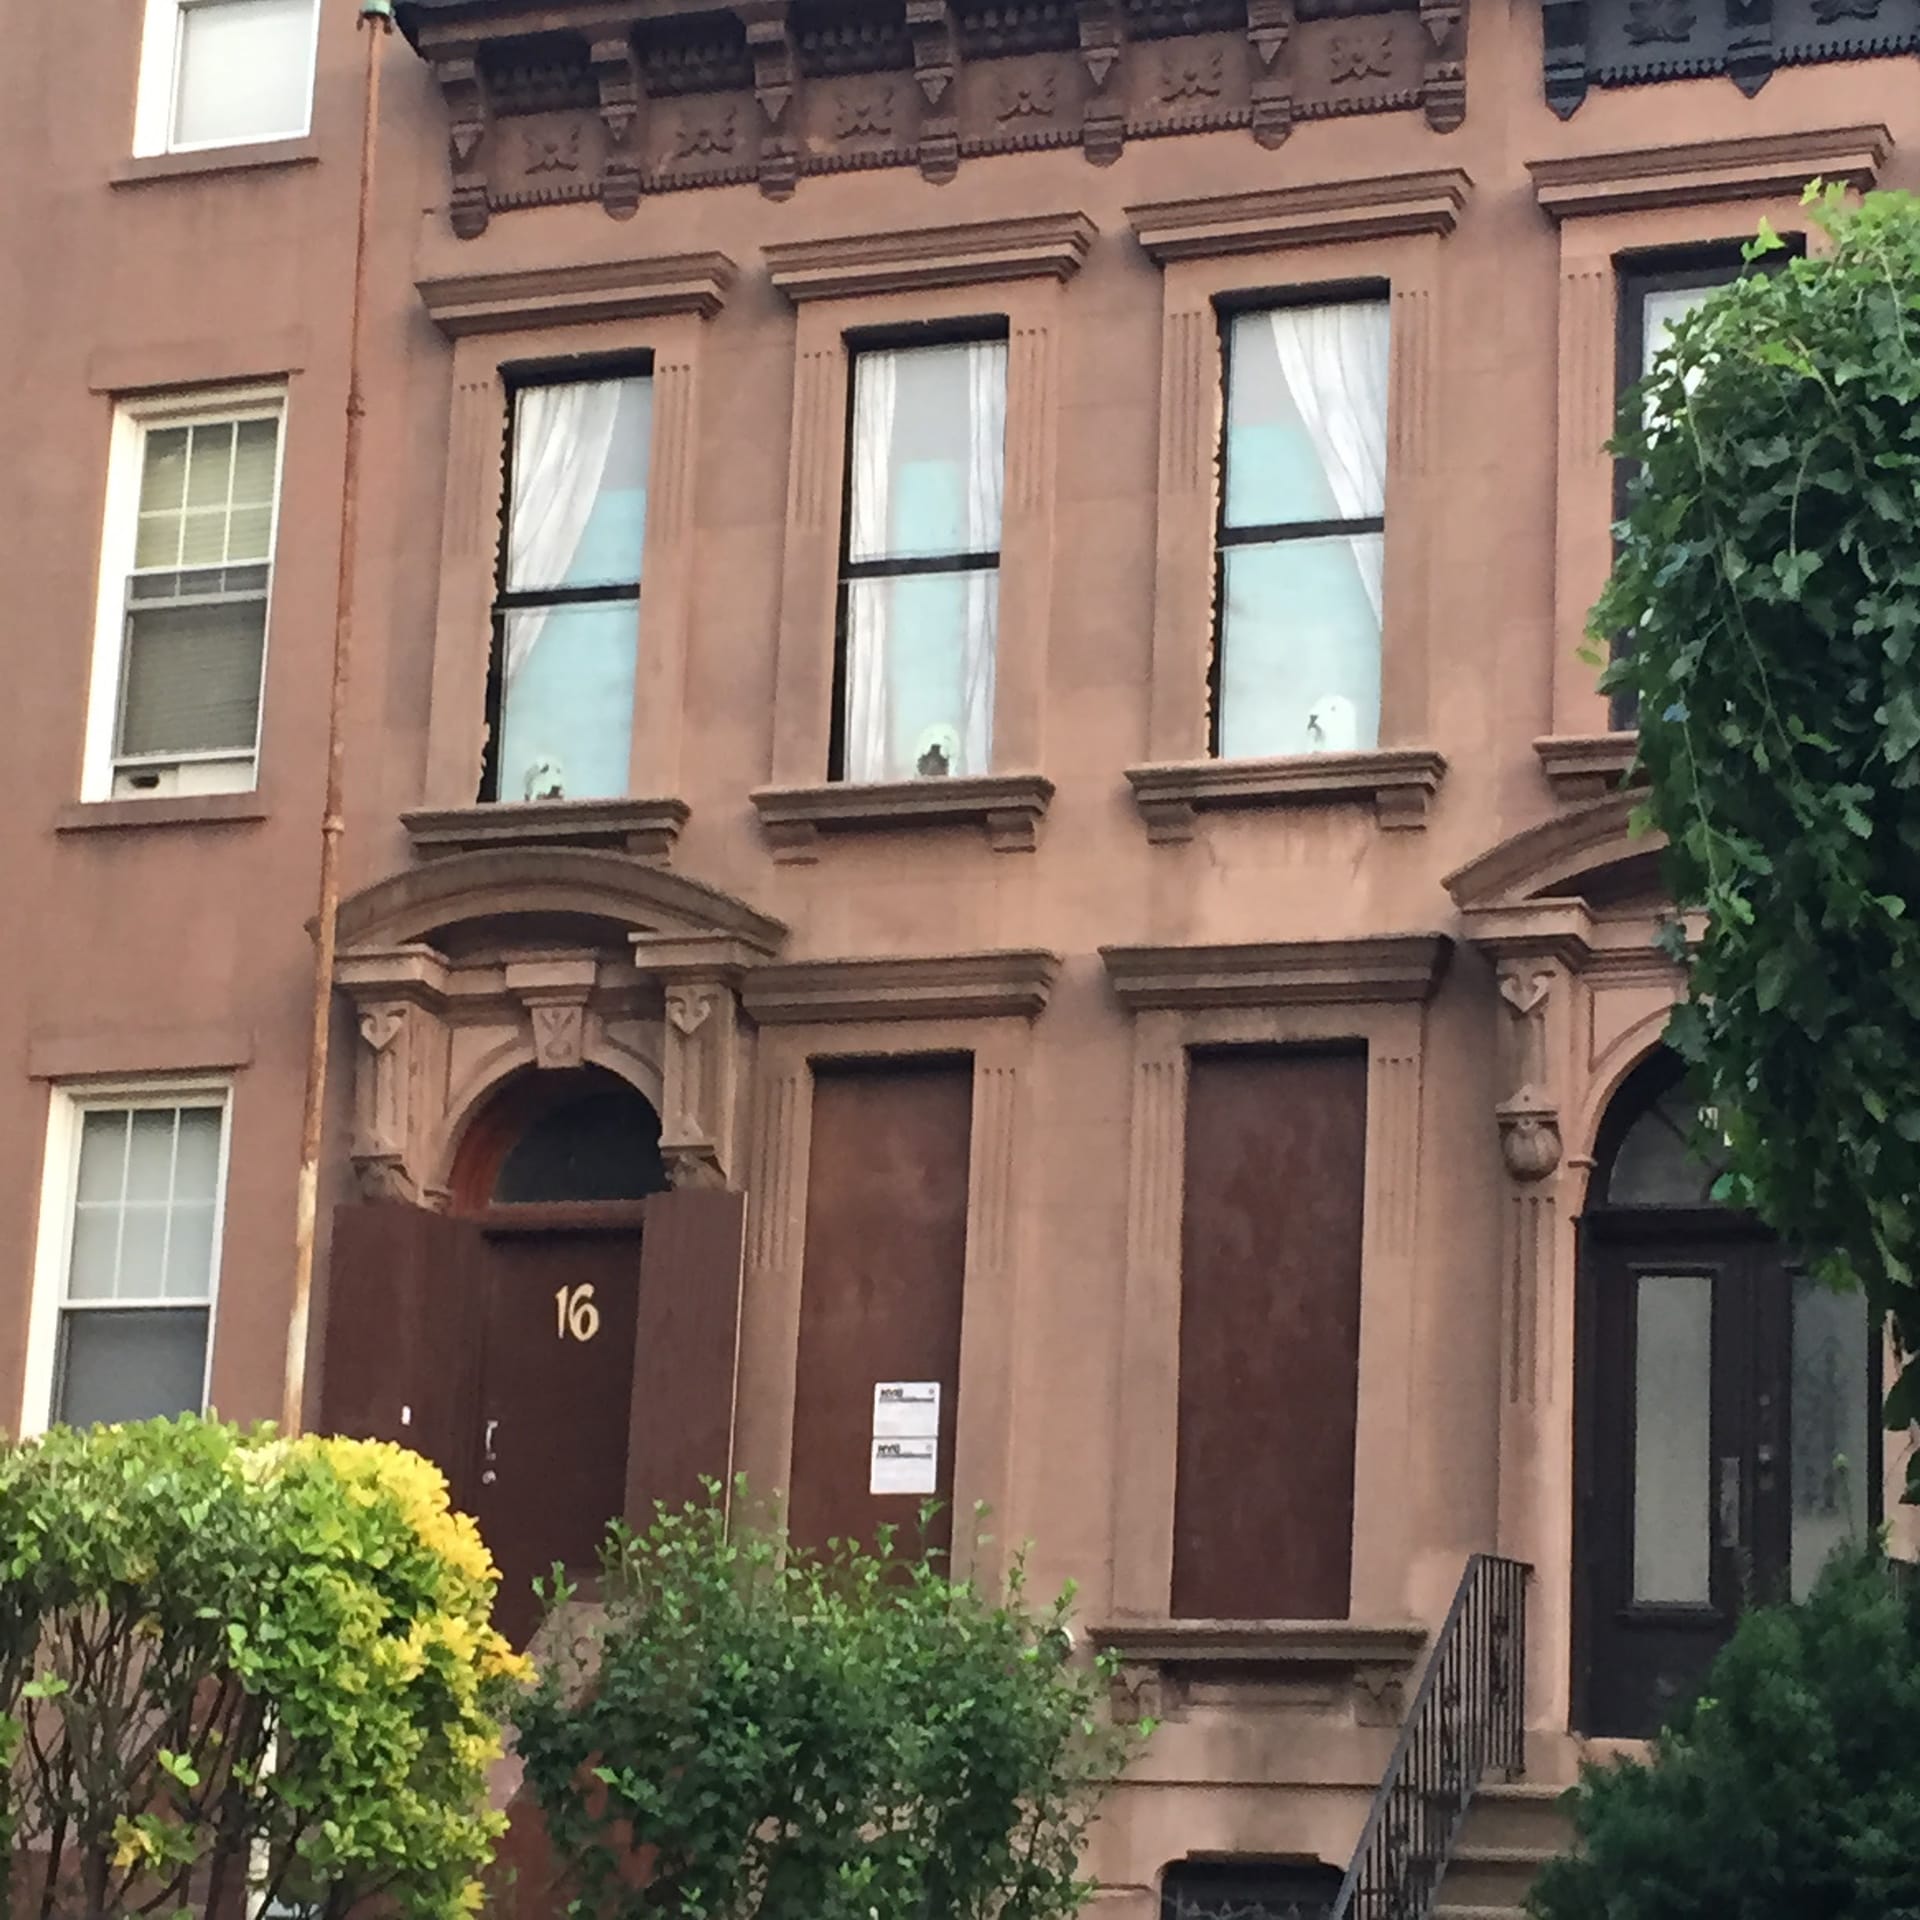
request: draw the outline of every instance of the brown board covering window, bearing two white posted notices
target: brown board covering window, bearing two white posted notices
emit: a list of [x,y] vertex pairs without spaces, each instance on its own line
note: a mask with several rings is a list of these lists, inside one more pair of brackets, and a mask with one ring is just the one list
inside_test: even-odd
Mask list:
[[793,1407],[795,1540],[872,1544],[883,1523],[918,1544],[922,1496],[870,1494],[874,1386],[941,1386],[927,1544],[952,1544],[960,1294],[973,1117],[968,1060],[835,1066],[814,1079]]

